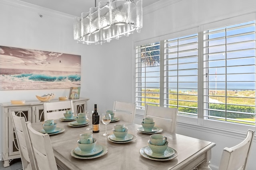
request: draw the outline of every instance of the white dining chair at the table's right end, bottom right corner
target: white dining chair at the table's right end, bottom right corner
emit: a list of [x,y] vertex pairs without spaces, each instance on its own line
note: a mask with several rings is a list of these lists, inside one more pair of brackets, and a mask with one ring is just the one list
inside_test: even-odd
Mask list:
[[254,131],[249,129],[244,141],[234,147],[224,148],[219,170],[245,170],[253,137]]

